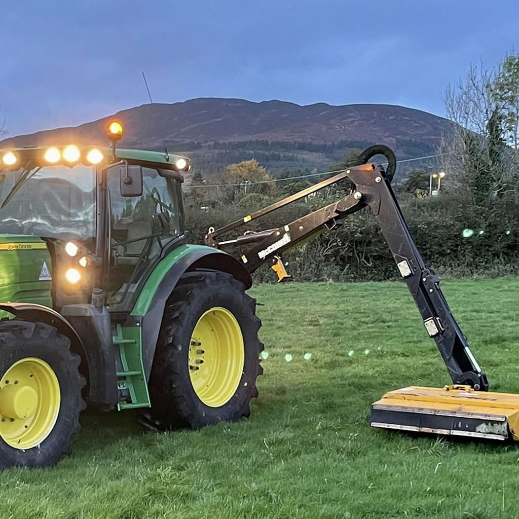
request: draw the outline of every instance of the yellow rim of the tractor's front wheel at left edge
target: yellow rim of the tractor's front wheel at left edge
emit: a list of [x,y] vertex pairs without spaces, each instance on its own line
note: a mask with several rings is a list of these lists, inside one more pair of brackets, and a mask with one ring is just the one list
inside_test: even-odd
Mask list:
[[39,445],[56,424],[60,401],[58,377],[45,361],[15,362],[0,380],[0,436],[17,449]]

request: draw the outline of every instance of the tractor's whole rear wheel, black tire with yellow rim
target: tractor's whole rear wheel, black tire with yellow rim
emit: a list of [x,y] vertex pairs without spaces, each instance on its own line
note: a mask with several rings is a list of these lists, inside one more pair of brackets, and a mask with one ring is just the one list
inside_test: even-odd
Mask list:
[[182,277],[165,311],[150,377],[156,425],[195,429],[249,416],[262,372],[255,307],[228,274]]

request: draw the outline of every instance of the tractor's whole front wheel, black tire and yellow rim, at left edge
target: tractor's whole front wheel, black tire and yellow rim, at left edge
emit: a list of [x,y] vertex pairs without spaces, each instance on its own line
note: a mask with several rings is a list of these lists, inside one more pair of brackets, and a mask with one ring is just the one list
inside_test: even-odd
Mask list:
[[85,380],[69,348],[48,324],[0,322],[0,470],[51,465],[70,452]]

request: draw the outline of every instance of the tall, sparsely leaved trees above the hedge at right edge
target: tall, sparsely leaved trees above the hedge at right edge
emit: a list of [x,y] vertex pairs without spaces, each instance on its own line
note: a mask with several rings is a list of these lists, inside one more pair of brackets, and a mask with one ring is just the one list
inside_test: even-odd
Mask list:
[[477,204],[496,196],[517,196],[519,168],[519,54],[495,70],[472,65],[466,77],[445,95],[452,131],[441,152],[443,169]]

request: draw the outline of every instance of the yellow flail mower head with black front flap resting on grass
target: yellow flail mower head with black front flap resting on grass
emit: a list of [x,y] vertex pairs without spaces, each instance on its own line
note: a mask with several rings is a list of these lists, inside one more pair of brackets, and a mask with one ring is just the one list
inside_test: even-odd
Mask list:
[[400,431],[519,440],[519,394],[470,386],[410,386],[386,393],[371,407],[371,426]]

